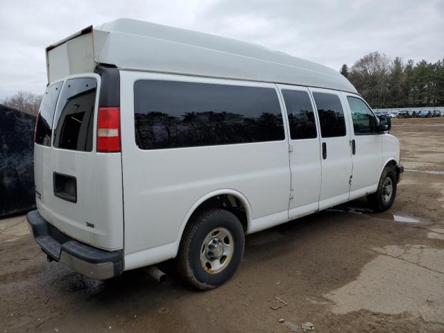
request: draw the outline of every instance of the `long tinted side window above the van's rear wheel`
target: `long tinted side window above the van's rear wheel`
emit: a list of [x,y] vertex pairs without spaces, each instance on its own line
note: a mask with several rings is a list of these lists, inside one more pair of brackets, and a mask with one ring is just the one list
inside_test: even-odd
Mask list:
[[135,137],[142,149],[284,139],[275,89],[139,80],[134,91]]

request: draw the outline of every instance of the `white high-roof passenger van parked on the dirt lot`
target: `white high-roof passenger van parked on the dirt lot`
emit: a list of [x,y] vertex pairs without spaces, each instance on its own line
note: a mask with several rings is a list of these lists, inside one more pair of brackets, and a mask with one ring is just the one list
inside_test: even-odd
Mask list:
[[49,259],[90,278],[176,258],[212,289],[246,234],[395,200],[390,119],[322,65],[131,19],[49,46],[46,61],[28,223]]

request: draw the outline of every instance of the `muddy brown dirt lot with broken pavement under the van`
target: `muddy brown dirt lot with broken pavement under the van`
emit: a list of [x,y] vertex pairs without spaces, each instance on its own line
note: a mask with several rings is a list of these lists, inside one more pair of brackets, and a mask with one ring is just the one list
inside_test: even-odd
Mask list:
[[24,216],[1,220],[0,332],[291,332],[280,318],[318,332],[444,332],[444,118],[395,120],[392,133],[407,171],[391,210],[357,200],[250,235],[237,275],[214,291],[187,288],[170,264],[166,284],[143,270],[88,280],[46,262]]

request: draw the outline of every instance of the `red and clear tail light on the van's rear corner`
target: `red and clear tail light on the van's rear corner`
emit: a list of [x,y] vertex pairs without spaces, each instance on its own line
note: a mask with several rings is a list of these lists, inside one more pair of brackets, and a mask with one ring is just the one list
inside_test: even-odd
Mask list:
[[99,108],[97,115],[97,151],[117,153],[120,144],[120,109]]

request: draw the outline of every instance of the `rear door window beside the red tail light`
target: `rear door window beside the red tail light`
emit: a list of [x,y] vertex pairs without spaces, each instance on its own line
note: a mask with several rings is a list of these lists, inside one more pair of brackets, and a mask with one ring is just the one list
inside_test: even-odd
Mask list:
[[55,147],[92,151],[96,87],[94,78],[73,78],[65,82],[54,122],[57,123]]

